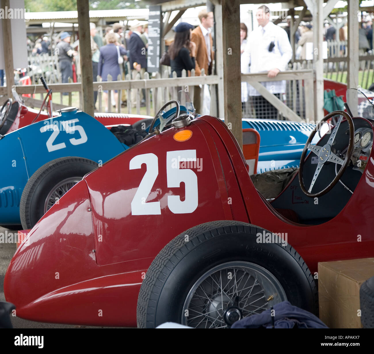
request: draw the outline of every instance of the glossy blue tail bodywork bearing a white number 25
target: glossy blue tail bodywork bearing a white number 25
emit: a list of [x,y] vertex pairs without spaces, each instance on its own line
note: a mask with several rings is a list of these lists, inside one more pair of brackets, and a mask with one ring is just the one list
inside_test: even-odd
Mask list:
[[21,224],[22,191],[33,173],[47,162],[76,156],[104,163],[125,150],[104,125],[77,111],[6,134],[0,147],[0,225]]

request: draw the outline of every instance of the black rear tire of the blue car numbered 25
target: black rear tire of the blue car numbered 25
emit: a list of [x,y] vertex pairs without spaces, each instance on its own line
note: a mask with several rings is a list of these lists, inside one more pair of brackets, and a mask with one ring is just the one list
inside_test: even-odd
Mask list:
[[[58,184],[62,184],[58,190],[58,198],[60,198],[67,188],[71,188],[97,166],[95,161],[70,156],[56,158],[37,169],[28,180],[19,203],[22,227],[24,229],[34,227],[45,213],[45,203],[49,194]],[[64,181],[66,181],[65,185]]]

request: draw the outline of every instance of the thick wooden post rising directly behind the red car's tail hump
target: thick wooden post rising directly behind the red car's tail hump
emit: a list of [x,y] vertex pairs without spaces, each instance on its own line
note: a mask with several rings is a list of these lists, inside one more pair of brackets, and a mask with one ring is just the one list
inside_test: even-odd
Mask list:
[[243,148],[239,7],[240,0],[222,0],[225,123]]

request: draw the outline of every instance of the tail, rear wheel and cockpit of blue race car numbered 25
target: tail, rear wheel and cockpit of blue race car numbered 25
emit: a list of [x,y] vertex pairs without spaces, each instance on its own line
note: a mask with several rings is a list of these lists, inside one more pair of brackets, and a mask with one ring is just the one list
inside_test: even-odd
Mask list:
[[59,116],[1,135],[0,225],[34,226],[86,173],[135,145],[153,127],[162,130],[175,116],[188,113],[178,102],[164,112],[170,103],[153,119],[122,126],[122,132],[70,107]]

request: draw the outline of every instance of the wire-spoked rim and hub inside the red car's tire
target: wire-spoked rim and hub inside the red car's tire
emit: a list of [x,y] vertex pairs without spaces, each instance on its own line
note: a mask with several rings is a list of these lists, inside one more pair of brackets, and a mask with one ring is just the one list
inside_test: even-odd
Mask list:
[[182,323],[194,328],[229,328],[241,318],[285,300],[281,284],[265,268],[250,262],[227,262],[207,271],[191,287]]

